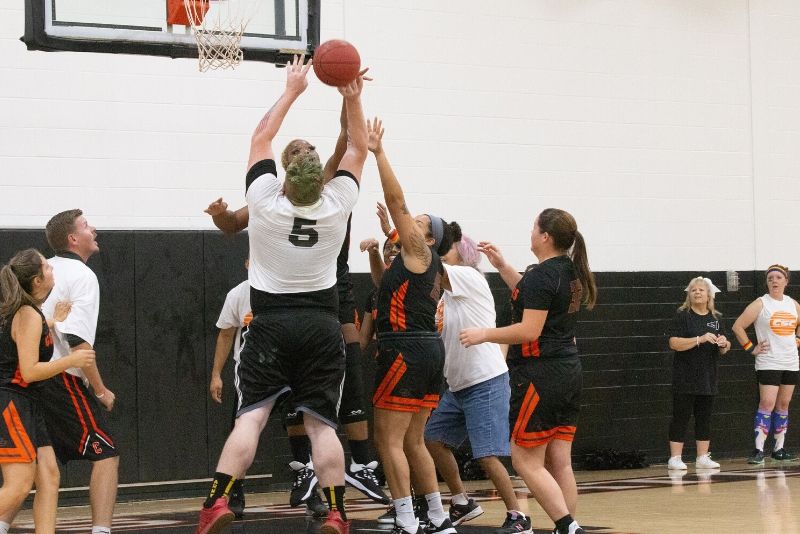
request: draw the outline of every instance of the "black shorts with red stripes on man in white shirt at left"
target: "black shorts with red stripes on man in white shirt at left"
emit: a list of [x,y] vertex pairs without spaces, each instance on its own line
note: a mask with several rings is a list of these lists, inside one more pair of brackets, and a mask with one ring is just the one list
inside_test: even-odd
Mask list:
[[119,456],[105,412],[83,384],[69,373],[45,380],[41,388],[42,411],[58,461],[96,462]]

